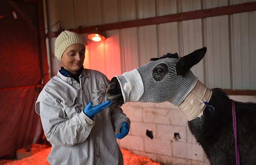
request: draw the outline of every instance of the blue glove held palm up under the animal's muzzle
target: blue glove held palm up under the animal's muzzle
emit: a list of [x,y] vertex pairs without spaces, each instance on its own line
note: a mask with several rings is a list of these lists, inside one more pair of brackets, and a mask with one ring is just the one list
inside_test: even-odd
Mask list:
[[99,105],[92,106],[92,101],[90,101],[89,104],[83,110],[83,112],[85,113],[86,116],[88,116],[90,119],[92,119],[92,117],[94,117],[94,115],[98,114],[100,111],[107,108],[111,104],[112,104],[111,101],[106,101],[105,103],[101,103]]

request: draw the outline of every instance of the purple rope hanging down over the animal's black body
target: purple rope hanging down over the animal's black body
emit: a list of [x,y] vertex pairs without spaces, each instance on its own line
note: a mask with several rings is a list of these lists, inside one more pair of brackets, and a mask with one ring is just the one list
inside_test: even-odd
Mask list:
[[236,130],[236,115],[235,115],[235,101],[230,99],[232,102],[232,115],[233,115],[233,130],[234,130],[234,137],[235,137],[235,158],[236,158],[236,165],[240,165],[240,158],[239,158],[239,150],[237,144],[237,130]]

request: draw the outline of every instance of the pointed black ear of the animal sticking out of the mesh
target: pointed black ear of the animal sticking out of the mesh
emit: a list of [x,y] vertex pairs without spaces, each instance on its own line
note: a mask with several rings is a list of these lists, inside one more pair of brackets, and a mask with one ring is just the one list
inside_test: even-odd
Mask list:
[[202,60],[203,56],[205,56],[205,53],[206,47],[203,47],[184,57],[181,57],[180,60],[176,63],[176,74],[184,76],[192,66],[196,65],[199,61]]

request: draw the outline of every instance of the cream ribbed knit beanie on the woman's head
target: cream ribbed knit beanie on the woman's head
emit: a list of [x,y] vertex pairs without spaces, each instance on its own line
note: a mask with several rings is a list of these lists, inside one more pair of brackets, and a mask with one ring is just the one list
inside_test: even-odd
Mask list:
[[55,57],[60,60],[64,51],[73,44],[82,44],[85,47],[85,41],[81,35],[67,30],[61,32],[55,40]]

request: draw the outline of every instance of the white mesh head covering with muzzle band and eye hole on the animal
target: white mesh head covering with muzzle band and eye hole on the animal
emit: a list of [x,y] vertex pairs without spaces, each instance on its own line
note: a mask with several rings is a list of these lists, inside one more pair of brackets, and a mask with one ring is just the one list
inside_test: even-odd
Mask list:
[[[124,103],[169,101],[178,106],[198,80],[190,70],[184,76],[177,76],[175,65],[178,61],[175,58],[159,59],[121,76],[115,76],[120,83]],[[156,81],[152,75],[153,69],[161,63],[168,66],[168,74],[161,81]]]

